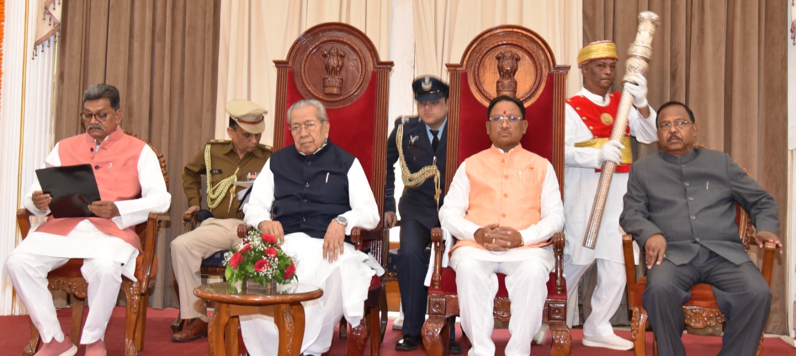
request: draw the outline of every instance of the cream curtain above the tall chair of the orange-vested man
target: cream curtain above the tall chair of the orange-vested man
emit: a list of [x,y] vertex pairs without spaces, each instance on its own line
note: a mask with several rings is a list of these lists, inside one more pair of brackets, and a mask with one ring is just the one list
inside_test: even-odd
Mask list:
[[[478,33],[497,25],[522,25],[539,33],[556,56],[556,64],[576,63],[582,42],[581,1],[548,0],[414,0],[417,75],[447,80],[447,63],[458,63]],[[567,92],[580,89],[570,70]]]

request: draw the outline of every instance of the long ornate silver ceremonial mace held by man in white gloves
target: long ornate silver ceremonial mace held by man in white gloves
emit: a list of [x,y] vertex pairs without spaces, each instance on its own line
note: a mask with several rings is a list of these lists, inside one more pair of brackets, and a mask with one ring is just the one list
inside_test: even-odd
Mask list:
[[[650,57],[652,56],[652,36],[655,34],[658,21],[661,17],[652,11],[644,11],[638,14],[638,30],[636,40],[627,48],[627,60],[625,61],[625,75],[622,83],[630,82],[630,77],[636,74],[645,75],[649,67]],[[630,105],[633,102],[633,95],[622,89],[622,99],[619,100],[619,108],[616,112],[614,129],[611,130],[611,140],[621,141],[627,129],[627,114],[630,113]],[[599,224],[603,220],[603,210],[605,200],[608,198],[608,188],[611,188],[611,178],[614,177],[616,164],[612,161],[603,162],[602,172],[599,174],[599,183],[595,202],[591,205],[591,215],[586,227],[586,235],[583,236],[583,247],[594,250],[597,243],[597,233]]]

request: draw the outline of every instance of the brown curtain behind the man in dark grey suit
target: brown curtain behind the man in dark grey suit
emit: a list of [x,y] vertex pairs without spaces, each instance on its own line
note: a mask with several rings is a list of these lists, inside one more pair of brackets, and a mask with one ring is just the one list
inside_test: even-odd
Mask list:
[[[636,35],[637,15],[661,16],[647,72],[650,105],[686,103],[699,125],[698,140],[729,153],[780,207],[779,237],[786,241],[786,45],[790,2],[781,0],[587,0],[583,44],[616,42],[619,64]],[[624,74],[619,65],[616,78]],[[615,84],[615,90],[622,90]],[[636,157],[657,150],[638,145]],[[784,249],[786,250],[786,249]],[[758,261],[757,247],[750,251]],[[766,332],[787,334],[786,265],[774,262],[771,315]]]

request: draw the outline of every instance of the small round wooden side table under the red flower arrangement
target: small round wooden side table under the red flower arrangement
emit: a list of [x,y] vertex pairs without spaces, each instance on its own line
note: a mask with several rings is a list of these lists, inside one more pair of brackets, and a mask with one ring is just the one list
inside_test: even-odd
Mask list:
[[304,307],[301,302],[318,299],[323,290],[312,284],[279,286],[276,290],[232,288],[227,282],[202,284],[193,294],[218,304],[210,317],[208,344],[211,356],[238,354],[240,315],[274,317],[279,329],[279,355],[298,356],[304,339]]

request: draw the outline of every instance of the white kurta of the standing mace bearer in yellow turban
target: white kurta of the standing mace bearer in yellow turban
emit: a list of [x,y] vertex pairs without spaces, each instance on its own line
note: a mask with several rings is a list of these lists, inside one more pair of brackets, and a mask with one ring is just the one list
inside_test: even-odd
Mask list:
[[[583,95],[597,106],[607,106],[611,97],[595,95],[582,88],[576,95]],[[603,103],[604,100],[604,103]],[[619,215],[622,213],[622,196],[627,190],[627,174],[615,173],[608,190],[608,199],[603,211],[595,250],[583,247],[583,235],[591,215],[591,204],[599,182],[599,172],[603,162],[599,161],[599,149],[591,147],[575,147],[580,141],[594,137],[591,130],[583,123],[583,119],[569,104],[565,106],[565,138],[564,138],[564,211],[567,222],[564,234],[567,245],[564,255],[573,265],[589,265],[595,258],[604,258],[623,263],[622,230],[619,227]],[[650,107],[650,117],[642,118],[638,110],[633,108],[628,115],[630,136],[639,142],[652,143],[657,141],[657,114]]]

